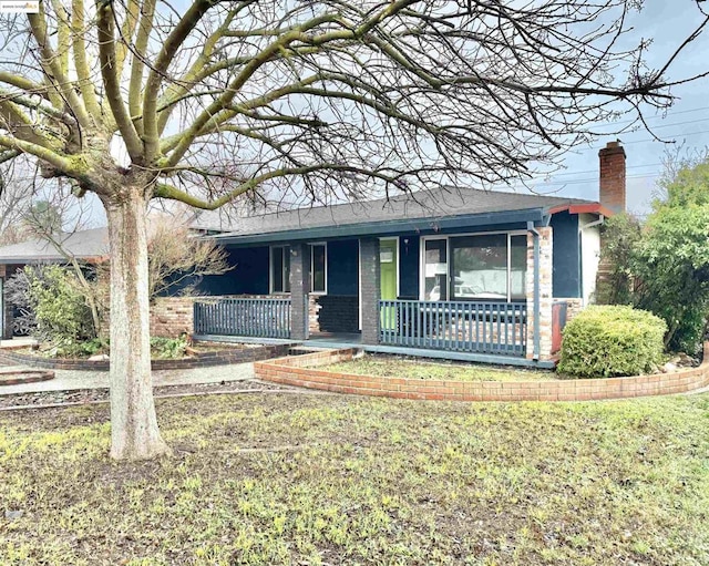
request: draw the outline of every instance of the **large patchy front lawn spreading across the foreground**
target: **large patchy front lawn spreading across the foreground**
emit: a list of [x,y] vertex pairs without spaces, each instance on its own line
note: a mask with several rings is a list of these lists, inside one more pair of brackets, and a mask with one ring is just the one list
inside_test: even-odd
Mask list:
[[157,408],[142,464],[106,408],[0,415],[0,564],[709,564],[708,395]]

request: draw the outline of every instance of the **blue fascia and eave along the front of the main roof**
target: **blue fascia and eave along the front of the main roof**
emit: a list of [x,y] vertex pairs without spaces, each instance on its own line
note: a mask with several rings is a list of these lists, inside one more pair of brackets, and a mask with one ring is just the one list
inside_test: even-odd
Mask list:
[[472,215],[443,216],[439,218],[404,218],[335,226],[316,226],[264,234],[224,234],[212,237],[219,244],[245,246],[294,240],[314,241],[363,236],[382,237],[411,231],[435,234],[438,231],[456,228],[477,228],[527,222],[533,222],[541,226],[547,215],[548,213],[544,208],[525,208],[522,210],[501,210]]

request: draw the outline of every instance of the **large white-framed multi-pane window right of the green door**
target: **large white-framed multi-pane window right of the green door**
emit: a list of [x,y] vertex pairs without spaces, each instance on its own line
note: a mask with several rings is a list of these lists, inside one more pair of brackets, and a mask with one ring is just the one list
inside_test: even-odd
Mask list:
[[425,238],[423,300],[524,300],[526,234]]

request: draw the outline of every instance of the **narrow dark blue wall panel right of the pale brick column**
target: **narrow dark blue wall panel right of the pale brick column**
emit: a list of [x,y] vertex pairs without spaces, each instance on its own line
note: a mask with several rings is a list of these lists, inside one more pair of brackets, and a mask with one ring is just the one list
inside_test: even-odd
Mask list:
[[551,226],[554,229],[554,297],[580,297],[578,215],[555,214]]

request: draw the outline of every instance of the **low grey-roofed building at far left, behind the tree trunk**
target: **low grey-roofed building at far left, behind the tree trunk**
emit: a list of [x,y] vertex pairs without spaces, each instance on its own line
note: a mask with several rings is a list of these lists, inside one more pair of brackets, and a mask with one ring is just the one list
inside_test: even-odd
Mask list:
[[[109,229],[94,228],[56,236],[61,248],[85,263],[105,259],[109,255]],[[33,238],[0,247],[0,338],[12,337],[12,305],[4,300],[4,281],[25,265],[65,264],[66,257],[45,238]]]

